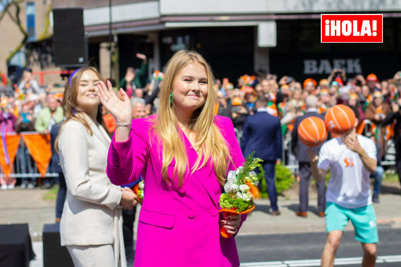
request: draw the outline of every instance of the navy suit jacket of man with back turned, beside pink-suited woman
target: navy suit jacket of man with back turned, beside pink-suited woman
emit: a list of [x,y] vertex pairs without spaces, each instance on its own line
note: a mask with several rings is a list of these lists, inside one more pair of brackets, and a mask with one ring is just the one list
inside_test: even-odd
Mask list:
[[255,157],[266,161],[280,159],[282,142],[278,117],[260,111],[246,118],[241,138],[245,157],[255,151]]

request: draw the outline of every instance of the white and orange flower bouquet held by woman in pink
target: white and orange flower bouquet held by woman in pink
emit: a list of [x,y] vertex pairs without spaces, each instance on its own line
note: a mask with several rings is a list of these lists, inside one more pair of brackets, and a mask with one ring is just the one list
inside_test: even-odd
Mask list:
[[[245,159],[244,166],[240,166],[237,170],[229,171],[227,182],[224,186],[225,193],[221,194],[219,204],[222,208],[220,212],[228,212],[235,214],[246,214],[254,208],[254,198],[259,198],[258,189],[259,181],[264,177],[265,172],[261,171],[258,174],[253,170],[260,167],[263,160],[253,158],[255,152],[252,152]],[[229,238],[230,233],[227,233],[224,227],[220,228],[220,234],[223,237]]]

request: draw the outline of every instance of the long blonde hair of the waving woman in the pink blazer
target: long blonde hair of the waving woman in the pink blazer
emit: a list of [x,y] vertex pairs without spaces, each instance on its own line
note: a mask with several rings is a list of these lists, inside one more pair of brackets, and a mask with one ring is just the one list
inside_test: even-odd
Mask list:
[[[216,92],[213,88],[214,78],[209,64],[194,51],[181,50],[175,53],[167,63],[165,78],[160,84],[160,105],[152,129],[155,130],[156,136],[163,147],[161,172],[164,181],[168,182],[167,169],[174,158],[173,177],[177,175],[178,185],[181,186],[183,184],[188,159],[185,146],[182,139],[179,138],[180,131],[177,127],[177,111],[175,110],[174,102],[169,103],[169,95],[172,92],[179,72],[185,66],[194,62],[202,64],[206,69],[208,95],[205,104],[193,112],[189,124],[189,130],[195,134],[194,146],[199,148],[197,151],[198,156],[194,166],[192,166],[191,172],[193,173],[195,170],[204,167],[208,163],[209,158],[212,158],[217,179],[221,185],[224,185],[228,160],[232,159],[225,139],[214,122],[214,110],[217,103]],[[204,160],[201,163],[202,156],[204,156]]]

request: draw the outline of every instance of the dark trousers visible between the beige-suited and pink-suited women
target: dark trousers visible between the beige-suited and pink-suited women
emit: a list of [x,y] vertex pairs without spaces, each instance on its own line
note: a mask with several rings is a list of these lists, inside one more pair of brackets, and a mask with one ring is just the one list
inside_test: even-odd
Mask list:
[[134,221],[136,206],[133,209],[122,210],[122,234],[124,237],[125,257],[127,266],[134,265]]

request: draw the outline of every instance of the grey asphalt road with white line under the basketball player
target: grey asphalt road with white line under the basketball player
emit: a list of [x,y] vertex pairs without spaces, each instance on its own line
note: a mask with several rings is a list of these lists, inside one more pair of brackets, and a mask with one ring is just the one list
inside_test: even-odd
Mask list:
[[[401,266],[401,229],[379,229],[379,239],[377,254],[381,259],[378,261],[382,262],[376,265]],[[326,233],[245,235],[237,236],[236,241],[241,266],[316,266],[320,265],[318,259]],[[362,257],[360,242],[354,239],[353,231],[345,231],[337,250],[337,261],[342,266],[360,266],[360,259],[355,257]]]

